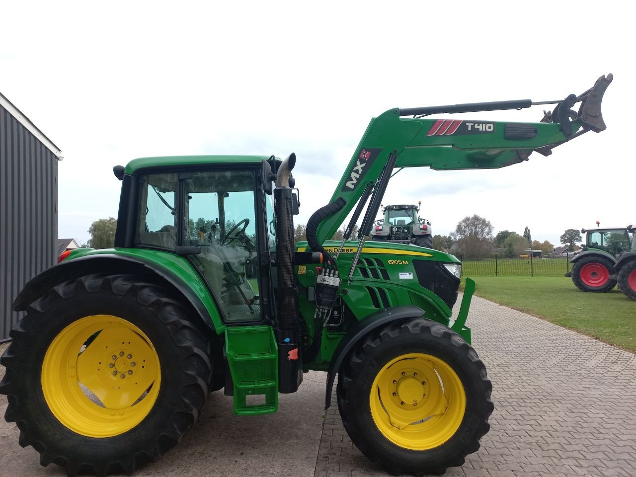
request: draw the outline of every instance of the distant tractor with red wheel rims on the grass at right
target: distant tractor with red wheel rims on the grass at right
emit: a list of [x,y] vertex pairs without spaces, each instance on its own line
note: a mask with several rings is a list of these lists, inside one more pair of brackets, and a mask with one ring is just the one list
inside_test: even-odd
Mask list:
[[618,284],[625,296],[636,300],[634,231],[632,225],[625,228],[582,228],[581,233],[586,234],[583,251],[570,260],[572,271],[565,276],[572,277],[572,282],[583,291],[610,291]]

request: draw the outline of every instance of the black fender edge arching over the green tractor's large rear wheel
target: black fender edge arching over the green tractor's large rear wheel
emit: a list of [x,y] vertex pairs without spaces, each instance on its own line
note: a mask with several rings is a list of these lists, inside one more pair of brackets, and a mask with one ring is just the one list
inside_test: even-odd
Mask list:
[[204,303],[190,286],[173,272],[157,263],[139,257],[120,254],[87,255],[48,268],[27,282],[22,291],[13,301],[13,310],[22,312],[27,307],[44,296],[49,289],[67,280],[79,278],[86,273],[130,273],[144,279],[155,280],[181,294],[201,317],[207,328],[214,329],[211,316]]

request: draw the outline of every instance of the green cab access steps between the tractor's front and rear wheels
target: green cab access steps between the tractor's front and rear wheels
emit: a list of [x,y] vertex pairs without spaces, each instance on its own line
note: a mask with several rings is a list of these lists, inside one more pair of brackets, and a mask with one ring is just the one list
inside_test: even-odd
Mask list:
[[[225,331],[237,415],[278,409],[278,347],[270,326],[233,326]],[[258,397],[256,397],[258,396]]]

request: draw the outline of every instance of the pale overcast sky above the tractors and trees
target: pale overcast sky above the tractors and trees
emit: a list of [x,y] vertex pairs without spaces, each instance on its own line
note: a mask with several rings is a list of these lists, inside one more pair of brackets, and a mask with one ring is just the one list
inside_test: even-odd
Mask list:
[[117,216],[113,165],[135,157],[294,151],[306,223],[387,109],[562,99],[614,73],[605,132],[505,169],[404,170],[385,195],[422,200],[434,233],[479,214],[558,244],[567,228],[636,223],[627,4],[0,0],[0,92],[62,149],[58,236],[85,242]]

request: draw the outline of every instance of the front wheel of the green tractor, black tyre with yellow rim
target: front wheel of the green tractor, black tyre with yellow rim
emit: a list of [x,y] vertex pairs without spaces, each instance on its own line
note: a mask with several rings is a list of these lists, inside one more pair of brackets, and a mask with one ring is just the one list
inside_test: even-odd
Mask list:
[[454,331],[413,318],[372,331],[340,370],[338,408],[351,440],[391,473],[461,466],[488,432],[492,385]]

